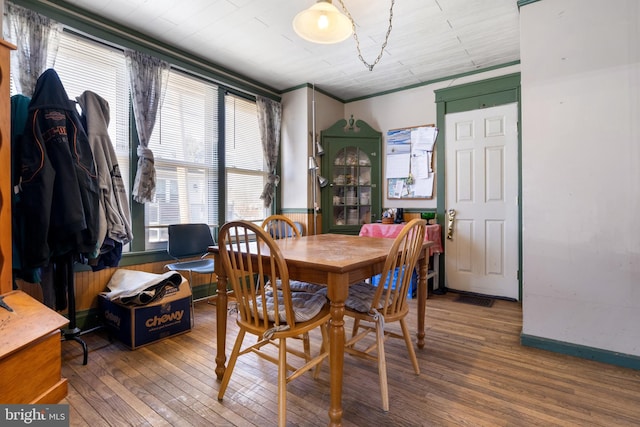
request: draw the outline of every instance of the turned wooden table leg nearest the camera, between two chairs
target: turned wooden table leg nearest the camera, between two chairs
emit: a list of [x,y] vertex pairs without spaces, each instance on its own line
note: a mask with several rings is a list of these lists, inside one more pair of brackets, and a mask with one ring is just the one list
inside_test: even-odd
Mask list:
[[348,275],[329,274],[327,295],[331,301],[329,369],[331,398],[329,425],[342,425],[342,378],[344,369],[344,301],[349,294]]

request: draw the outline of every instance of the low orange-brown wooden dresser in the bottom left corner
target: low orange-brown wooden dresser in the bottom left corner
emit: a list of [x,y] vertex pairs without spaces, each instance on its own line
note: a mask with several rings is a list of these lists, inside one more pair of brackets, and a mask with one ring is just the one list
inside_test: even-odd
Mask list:
[[67,396],[62,378],[62,335],[69,320],[22,291],[0,307],[0,402],[58,403]]

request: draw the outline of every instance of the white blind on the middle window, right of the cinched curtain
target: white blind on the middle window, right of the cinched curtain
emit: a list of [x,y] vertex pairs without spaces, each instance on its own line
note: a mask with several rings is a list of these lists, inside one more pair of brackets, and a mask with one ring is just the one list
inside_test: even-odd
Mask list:
[[171,70],[149,148],[156,195],[145,204],[146,248],[164,248],[167,225],[218,224],[218,87]]

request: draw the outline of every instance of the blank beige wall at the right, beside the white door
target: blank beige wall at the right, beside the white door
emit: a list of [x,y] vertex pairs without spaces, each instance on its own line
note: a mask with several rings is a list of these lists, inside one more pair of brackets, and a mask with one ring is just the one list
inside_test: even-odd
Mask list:
[[523,333],[640,356],[640,2],[520,22]]

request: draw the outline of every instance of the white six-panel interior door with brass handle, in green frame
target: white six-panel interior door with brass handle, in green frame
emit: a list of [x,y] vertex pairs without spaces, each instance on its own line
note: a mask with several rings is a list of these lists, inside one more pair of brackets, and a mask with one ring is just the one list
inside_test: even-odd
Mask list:
[[445,117],[445,280],[450,289],[518,299],[518,107]]

